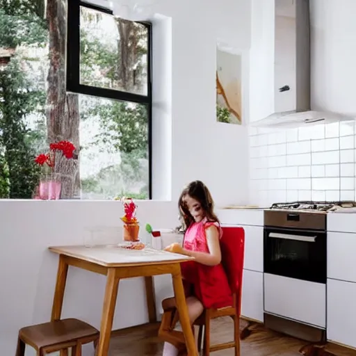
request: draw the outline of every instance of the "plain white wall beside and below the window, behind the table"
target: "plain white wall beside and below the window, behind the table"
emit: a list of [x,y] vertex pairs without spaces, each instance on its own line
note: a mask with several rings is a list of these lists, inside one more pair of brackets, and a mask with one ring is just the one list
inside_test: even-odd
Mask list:
[[[172,47],[171,68],[167,64],[163,70],[168,76],[171,72],[172,93],[169,85],[168,92],[157,87],[154,91],[156,104],[168,103],[161,108],[165,113],[156,116],[165,120],[162,134],[172,136],[172,153],[163,145],[167,152],[160,158],[161,169],[170,172],[159,179],[172,179],[163,195],[171,193],[174,202],[140,202],[138,217],[143,225],[175,227],[175,200],[181,187],[193,179],[204,180],[219,205],[248,200],[247,127],[216,122],[215,71],[218,38],[237,49],[250,46],[250,1],[166,0],[157,11],[172,18],[171,25],[168,21],[163,26],[172,26],[172,38],[162,36],[165,49]],[[154,72],[159,70],[156,65]],[[157,131],[153,134],[158,139]],[[169,141],[166,138],[167,145]],[[81,244],[86,227],[120,225],[121,214],[118,202],[0,200],[1,355],[15,353],[20,327],[50,318],[57,257],[47,247]],[[140,279],[120,284],[114,328],[147,321],[143,291]],[[162,296],[162,291],[157,292]],[[103,293],[104,277],[70,270],[63,316],[98,326]]]

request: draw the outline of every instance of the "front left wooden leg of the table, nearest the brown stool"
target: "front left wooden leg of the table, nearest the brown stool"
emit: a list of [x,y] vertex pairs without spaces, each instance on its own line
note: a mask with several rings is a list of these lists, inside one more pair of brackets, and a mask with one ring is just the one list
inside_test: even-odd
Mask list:
[[118,287],[119,278],[116,277],[115,268],[108,268],[97,356],[108,355],[108,346],[110,344],[111,329],[113,327],[116,298],[118,298]]

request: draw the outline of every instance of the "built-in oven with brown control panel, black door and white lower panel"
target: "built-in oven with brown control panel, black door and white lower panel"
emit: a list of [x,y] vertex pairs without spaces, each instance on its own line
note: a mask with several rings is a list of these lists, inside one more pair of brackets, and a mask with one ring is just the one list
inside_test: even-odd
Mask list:
[[[265,323],[275,318],[325,330],[327,232],[325,212],[264,212]],[[272,317],[272,318],[271,318]],[[293,329],[293,328],[292,328]],[[300,332],[300,327],[296,330]],[[302,334],[286,332],[307,339]],[[307,330],[307,335],[312,335]],[[315,339],[315,338],[314,338]],[[314,339],[310,341],[315,341]],[[316,339],[322,339],[317,332]]]

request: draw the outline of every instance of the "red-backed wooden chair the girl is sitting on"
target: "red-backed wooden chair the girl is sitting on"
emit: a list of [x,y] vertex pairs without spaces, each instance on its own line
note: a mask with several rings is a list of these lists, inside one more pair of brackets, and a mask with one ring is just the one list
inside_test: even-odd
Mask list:
[[[244,229],[242,227],[223,227],[223,237],[220,241],[220,247],[223,266],[229,279],[234,302],[231,307],[223,309],[205,309],[203,314],[195,321],[194,324],[199,325],[198,347],[201,348],[202,337],[204,337],[202,350],[204,356],[209,356],[213,351],[225,350],[226,348],[235,348],[235,356],[240,356],[241,291],[245,251]],[[211,345],[211,320],[222,316],[231,316],[234,320],[234,341]]]

